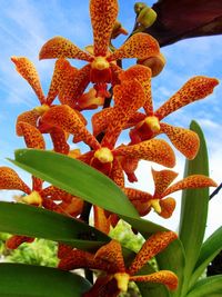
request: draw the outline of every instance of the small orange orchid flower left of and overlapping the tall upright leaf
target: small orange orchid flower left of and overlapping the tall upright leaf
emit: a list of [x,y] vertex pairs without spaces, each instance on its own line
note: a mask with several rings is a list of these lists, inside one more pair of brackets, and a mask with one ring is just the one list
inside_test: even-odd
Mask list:
[[175,208],[175,200],[172,197],[168,197],[170,194],[183,189],[216,187],[216,184],[211,178],[203,175],[189,176],[172,186],[170,185],[176,178],[176,172],[172,170],[155,171],[152,169],[152,176],[155,186],[153,195],[138,189],[124,188],[125,195],[140,216],[148,215],[153,208],[159,216],[169,218]]

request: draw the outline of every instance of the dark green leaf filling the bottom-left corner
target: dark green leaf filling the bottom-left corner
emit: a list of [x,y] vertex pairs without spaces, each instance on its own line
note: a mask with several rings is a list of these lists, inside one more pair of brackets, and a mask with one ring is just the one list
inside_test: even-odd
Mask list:
[[1,297],[81,297],[90,289],[84,278],[56,268],[0,264]]

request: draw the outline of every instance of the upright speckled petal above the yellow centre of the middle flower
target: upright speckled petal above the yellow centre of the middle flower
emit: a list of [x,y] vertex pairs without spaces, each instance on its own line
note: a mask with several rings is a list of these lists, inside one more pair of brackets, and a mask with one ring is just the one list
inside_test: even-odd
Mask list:
[[101,142],[102,146],[111,149],[114,147],[114,143],[128,120],[145,102],[143,87],[137,80],[123,81],[120,86],[114,87],[113,93],[114,107],[112,119]]

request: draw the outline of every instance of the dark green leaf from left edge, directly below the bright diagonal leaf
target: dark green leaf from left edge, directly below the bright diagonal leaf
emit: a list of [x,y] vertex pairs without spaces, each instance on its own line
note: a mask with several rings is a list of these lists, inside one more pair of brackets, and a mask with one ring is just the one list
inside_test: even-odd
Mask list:
[[0,231],[39,237],[80,249],[97,249],[110,238],[74,218],[39,207],[0,202]]

